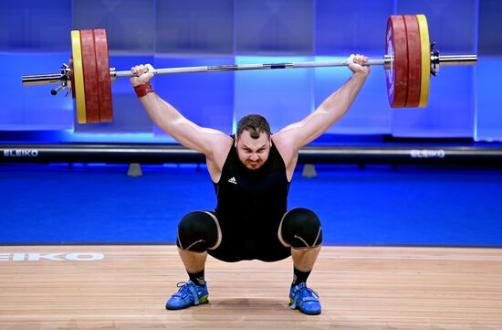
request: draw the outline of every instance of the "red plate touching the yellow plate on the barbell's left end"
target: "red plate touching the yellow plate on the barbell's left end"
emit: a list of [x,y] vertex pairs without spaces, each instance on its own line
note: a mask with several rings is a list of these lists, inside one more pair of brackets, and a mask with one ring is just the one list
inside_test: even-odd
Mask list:
[[86,92],[87,122],[99,122],[99,88],[96,50],[92,30],[81,30],[82,67],[84,69],[84,90]]

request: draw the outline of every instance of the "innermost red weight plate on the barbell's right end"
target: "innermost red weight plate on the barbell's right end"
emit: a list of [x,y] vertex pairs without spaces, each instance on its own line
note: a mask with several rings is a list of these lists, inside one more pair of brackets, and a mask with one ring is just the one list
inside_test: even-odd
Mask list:
[[393,57],[392,67],[386,70],[389,104],[392,108],[403,108],[408,92],[408,46],[403,16],[389,17],[385,41],[385,54]]

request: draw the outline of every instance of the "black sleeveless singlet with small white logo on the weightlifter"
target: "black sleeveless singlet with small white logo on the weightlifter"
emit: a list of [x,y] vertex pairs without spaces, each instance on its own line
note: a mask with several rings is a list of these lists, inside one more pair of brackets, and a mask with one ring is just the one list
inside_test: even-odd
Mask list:
[[267,162],[257,170],[241,163],[233,144],[220,180],[214,183],[218,202],[214,213],[223,239],[208,253],[222,261],[287,258],[290,250],[278,240],[277,229],[287,211],[288,189],[286,165],[274,144]]

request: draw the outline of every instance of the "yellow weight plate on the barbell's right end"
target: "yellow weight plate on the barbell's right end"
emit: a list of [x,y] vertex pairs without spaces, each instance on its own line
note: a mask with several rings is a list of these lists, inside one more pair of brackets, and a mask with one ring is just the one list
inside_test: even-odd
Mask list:
[[420,49],[422,52],[422,80],[420,82],[420,101],[418,106],[424,108],[429,99],[429,84],[431,80],[431,41],[429,39],[429,26],[424,15],[417,15],[420,28]]

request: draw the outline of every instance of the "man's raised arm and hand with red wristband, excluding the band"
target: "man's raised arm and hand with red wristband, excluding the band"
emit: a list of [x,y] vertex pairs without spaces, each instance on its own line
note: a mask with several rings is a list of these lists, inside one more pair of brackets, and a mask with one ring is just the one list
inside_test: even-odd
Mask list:
[[[153,70],[149,64],[132,68],[132,73],[137,76],[131,77],[131,85],[135,87],[152,80]],[[140,101],[152,118],[152,121],[187,148],[212,157],[214,148],[217,148],[217,145],[222,140],[228,140],[228,136],[223,132],[201,127],[189,121],[171,104],[162,100],[155,92],[147,93],[140,98]]]

